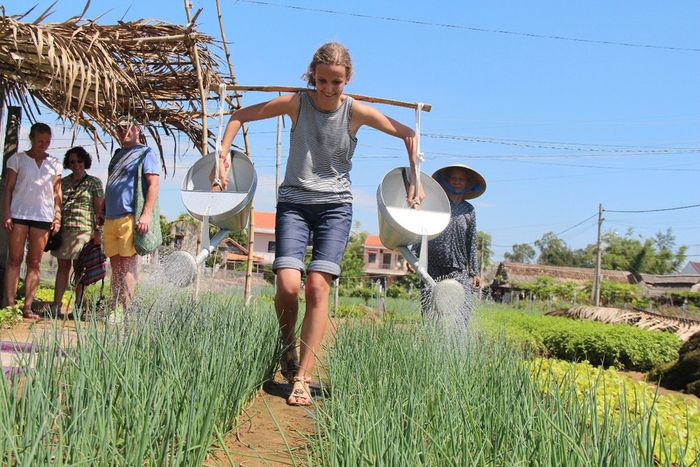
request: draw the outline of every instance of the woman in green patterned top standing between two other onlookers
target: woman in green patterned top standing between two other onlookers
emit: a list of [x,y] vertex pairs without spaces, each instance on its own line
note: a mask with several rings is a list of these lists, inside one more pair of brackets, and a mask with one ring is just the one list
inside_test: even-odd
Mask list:
[[[53,296],[53,310],[61,309],[63,293],[68,286],[71,266],[80,255],[86,243],[102,242],[101,225],[104,222],[104,191],[102,181],[86,173],[92,166],[92,157],[81,146],[66,152],[63,168],[71,171],[61,179],[63,205],[61,215],[61,232],[63,242],[51,254],[58,259],[56,286]],[[83,286],[77,284],[75,289],[76,308],[83,299]],[[72,314],[69,315],[72,317]]]

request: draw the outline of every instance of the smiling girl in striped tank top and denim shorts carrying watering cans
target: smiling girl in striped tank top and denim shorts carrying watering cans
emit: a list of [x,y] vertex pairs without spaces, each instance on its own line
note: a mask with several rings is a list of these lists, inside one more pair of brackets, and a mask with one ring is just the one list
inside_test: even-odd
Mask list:
[[[307,91],[234,112],[223,136],[220,173],[212,186],[213,190],[226,189],[229,149],[244,123],[279,115],[291,119],[289,159],[278,192],[272,265],[277,274],[275,309],[285,348],[282,373],[292,383],[287,399],[290,405],[312,403],[309,382],[328,320],[330,283],[340,275],[340,261],[352,224],[350,169],[358,130],[367,125],[401,139],[411,168],[416,162],[413,130],[344,94],[352,73],[348,50],[341,44],[327,43],[314,53],[308,67]],[[415,187],[412,178],[407,193],[411,202]],[[310,236],[313,253],[306,268],[304,253]],[[298,294],[305,269],[308,271],[304,284],[306,313],[297,360]]]

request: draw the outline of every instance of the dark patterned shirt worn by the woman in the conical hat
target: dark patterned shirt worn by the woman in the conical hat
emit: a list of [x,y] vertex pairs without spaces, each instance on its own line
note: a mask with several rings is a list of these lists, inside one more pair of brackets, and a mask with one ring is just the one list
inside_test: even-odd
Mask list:
[[467,201],[450,201],[450,206],[450,223],[428,241],[428,274],[436,278],[459,271],[469,277],[478,276],[474,206]]

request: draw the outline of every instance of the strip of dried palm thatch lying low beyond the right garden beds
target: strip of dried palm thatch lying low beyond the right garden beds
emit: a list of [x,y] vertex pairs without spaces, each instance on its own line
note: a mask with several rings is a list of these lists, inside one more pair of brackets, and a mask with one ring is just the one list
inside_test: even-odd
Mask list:
[[587,319],[603,323],[627,323],[642,329],[668,331],[684,341],[700,332],[700,321],[676,316],[659,315],[649,311],[627,310],[623,308],[576,306],[568,310],[547,313],[553,316],[566,316],[574,319]]

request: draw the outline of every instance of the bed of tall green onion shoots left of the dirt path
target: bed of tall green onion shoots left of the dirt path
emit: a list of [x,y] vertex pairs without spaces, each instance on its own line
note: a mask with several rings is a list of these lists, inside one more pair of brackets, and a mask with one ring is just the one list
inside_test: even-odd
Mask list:
[[67,348],[55,329],[22,378],[0,381],[0,463],[201,465],[272,373],[274,313],[187,292],[140,302]]

